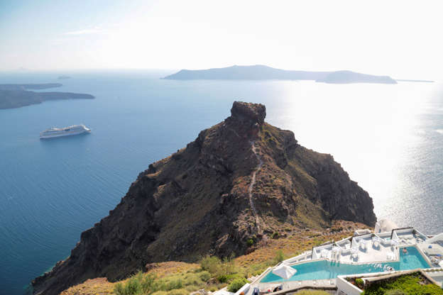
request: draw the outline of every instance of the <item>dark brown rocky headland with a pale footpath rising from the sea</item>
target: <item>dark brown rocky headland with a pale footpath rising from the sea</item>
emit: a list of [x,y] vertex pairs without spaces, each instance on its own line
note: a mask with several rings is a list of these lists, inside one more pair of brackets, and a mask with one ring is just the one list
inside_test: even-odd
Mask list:
[[121,203],[84,231],[70,257],[33,281],[58,294],[92,277],[122,279],[148,262],[246,252],[250,238],[334,219],[376,221],[373,204],[331,155],[264,122],[261,104],[231,116],[138,175]]

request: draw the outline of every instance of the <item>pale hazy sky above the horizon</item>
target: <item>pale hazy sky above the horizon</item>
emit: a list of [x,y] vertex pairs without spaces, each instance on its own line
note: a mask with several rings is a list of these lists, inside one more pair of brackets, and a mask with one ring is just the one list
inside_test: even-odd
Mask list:
[[443,76],[443,1],[6,1],[0,70],[270,65]]

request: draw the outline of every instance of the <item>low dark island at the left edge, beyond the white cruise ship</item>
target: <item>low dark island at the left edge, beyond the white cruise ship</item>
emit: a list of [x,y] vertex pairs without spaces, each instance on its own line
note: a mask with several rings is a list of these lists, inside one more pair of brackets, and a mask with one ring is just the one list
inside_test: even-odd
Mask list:
[[60,87],[60,83],[46,84],[0,84],[0,109],[20,108],[31,104],[41,104],[43,101],[66,99],[94,99],[90,94],[72,92],[35,92],[26,89],[48,89]]

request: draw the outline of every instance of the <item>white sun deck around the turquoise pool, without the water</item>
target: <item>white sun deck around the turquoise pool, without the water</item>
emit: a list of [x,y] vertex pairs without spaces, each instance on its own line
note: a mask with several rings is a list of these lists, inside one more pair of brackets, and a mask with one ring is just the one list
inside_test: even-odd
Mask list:
[[[315,252],[315,259],[312,259],[312,255],[310,255],[308,252],[304,252],[301,255],[298,255],[297,257],[292,257],[288,260],[285,260],[283,263],[286,263],[290,266],[297,265],[303,262],[312,262],[315,260],[328,260],[328,261],[339,261],[350,265],[360,265],[360,264],[368,264],[368,263],[383,263],[383,262],[398,262],[400,259],[400,248],[401,247],[416,247],[417,250],[420,252],[420,254],[425,258],[427,263],[431,267],[439,267],[439,265],[436,265],[431,262],[431,256],[427,254],[426,249],[429,247],[429,243],[426,243],[426,237],[425,235],[422,235],[421,233],[416,234],[416,230],[405,230],[401,229],[398,230],[398,233],[393,230],[392,236],[393,239],[395,238],[396,243],[398,245],[390,245],[390,243],[387,243],[390,238],[388,238],[387,233],[381,233],[379,237],[383,237],[378,240],[379,243],[373,243],[372,237],[377,235],[372,234],[366,234],[366,235],[354,235],[353,244],[354,246],[354,252],[356,252],[356,255],[351,255],[351,245],[349,245],[349,242],[346,242],[344,240],[341,240],[337,243],[334,243],[334,245],[346,245],[346,247],[341,247],[341,250],[339,252],[334,252],[332,250],[331,245],[322,245],[319,247],[314,247],[312,249],[312,253]],[[348,238],[349,239],[349,238]],[[383,240],[383,243],[380,243],[380,241]],[[359,241],[359,243],[357,243]],[[366,244],[366,247],[363,246],[363,244]],[[443,255],[443,247],[439,244],[432,244],[432,248],[434,251],[440,252],[441,255]],[[336,249],[337,250],[337,249]],[[327,252],[326,252],[327,251]],[[320,256],[321,258],[317,258],[317,256]],[[268,283],[262,283],[261,280],[263,277],[268,274],[268,272],[271,272],[273,267],[269,267],[266,269],[265,272],[263,272],[261,275],[256,277],[253,282],[251,282],[250,288],[245,293],[246,295],[252,294],[253,288],[258,287],[258,289],[262,291],[272,290],[275,288],[275,286],[279,286],[283,284],[283,290],[274,292],[273,294],[287,294],[287,293],[293,293],[299,289],[307,289],[307,288],[314,288],[314,289],[337,289],[337,279],[314,279],[314,280],[304,280],[304,281],[285,281],[285,282],[268,282]],[[443,268],[442,268],[443,272]],[[283,281],[283,279],[282,279]]]

